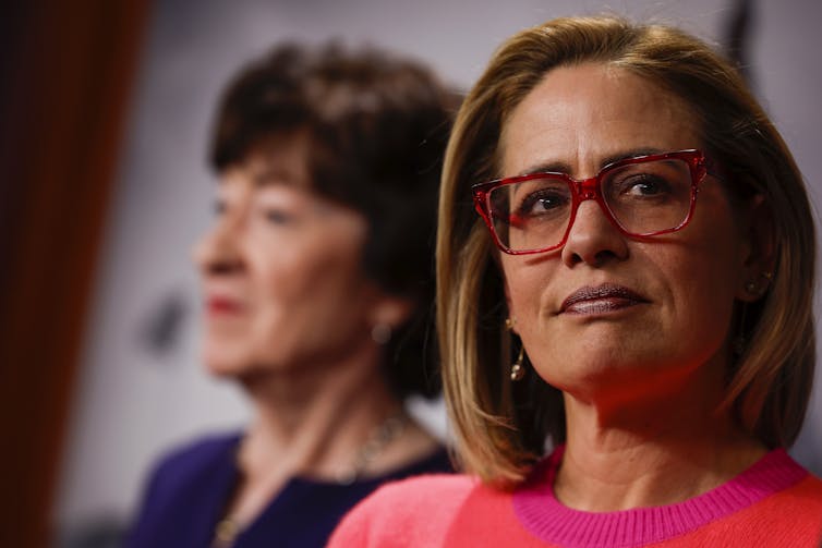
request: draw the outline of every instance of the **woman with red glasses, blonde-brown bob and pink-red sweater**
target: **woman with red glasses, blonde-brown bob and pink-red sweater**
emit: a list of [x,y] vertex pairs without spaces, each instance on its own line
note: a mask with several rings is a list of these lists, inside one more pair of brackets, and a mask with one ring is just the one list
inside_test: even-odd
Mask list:
[[822,482],[785,452],[813,222],[735,69],[665,26],[523,31],[458,114],[439,207],[468,474],[384,488],[333,546],[819,546]]

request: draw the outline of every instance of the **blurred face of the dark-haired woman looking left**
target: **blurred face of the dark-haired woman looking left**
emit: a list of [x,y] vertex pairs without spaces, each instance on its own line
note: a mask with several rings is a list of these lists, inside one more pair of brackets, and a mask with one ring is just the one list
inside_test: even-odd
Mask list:
[[279,139],[221,175],[217,220],[195,251],[215,374],[315,367],[371,342],[366,221],[310,190],[305,146]]

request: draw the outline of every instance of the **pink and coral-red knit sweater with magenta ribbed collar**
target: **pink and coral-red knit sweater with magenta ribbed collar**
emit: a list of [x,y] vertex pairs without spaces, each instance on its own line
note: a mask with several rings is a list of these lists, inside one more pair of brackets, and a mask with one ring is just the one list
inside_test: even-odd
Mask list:
[[329,548],[822,546],[822,480],[771,451],[730,482],[677,504],[582,512],[554,498],[561,453],[519,490],[466,475],[390,484],[349,513]]

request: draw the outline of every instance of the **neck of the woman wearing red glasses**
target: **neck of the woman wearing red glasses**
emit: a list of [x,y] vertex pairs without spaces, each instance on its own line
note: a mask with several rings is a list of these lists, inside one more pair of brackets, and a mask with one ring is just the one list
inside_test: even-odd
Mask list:
[[672,504],[717,487],[760,459],[765,448],[721,411],[722,383],[698,377],[699,372],[685,387],[619,404],[566,392],[568,439],[554,486],[557,499],[597,512]]

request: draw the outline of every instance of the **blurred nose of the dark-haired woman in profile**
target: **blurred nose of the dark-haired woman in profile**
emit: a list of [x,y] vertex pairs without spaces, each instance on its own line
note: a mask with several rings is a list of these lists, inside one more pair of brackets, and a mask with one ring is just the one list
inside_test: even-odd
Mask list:
[[204,277],[231,273],[242,268],[241,230],[242,221],[235,215],[225,212],[194,244],[192,257]]

